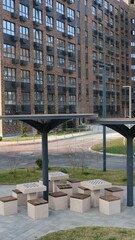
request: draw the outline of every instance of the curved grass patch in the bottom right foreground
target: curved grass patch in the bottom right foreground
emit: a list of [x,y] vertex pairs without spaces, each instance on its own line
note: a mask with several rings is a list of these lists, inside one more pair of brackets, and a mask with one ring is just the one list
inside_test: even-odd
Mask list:
[[77,227],[49,233],[39,240],[133,240],[135,229],[111,227]]

